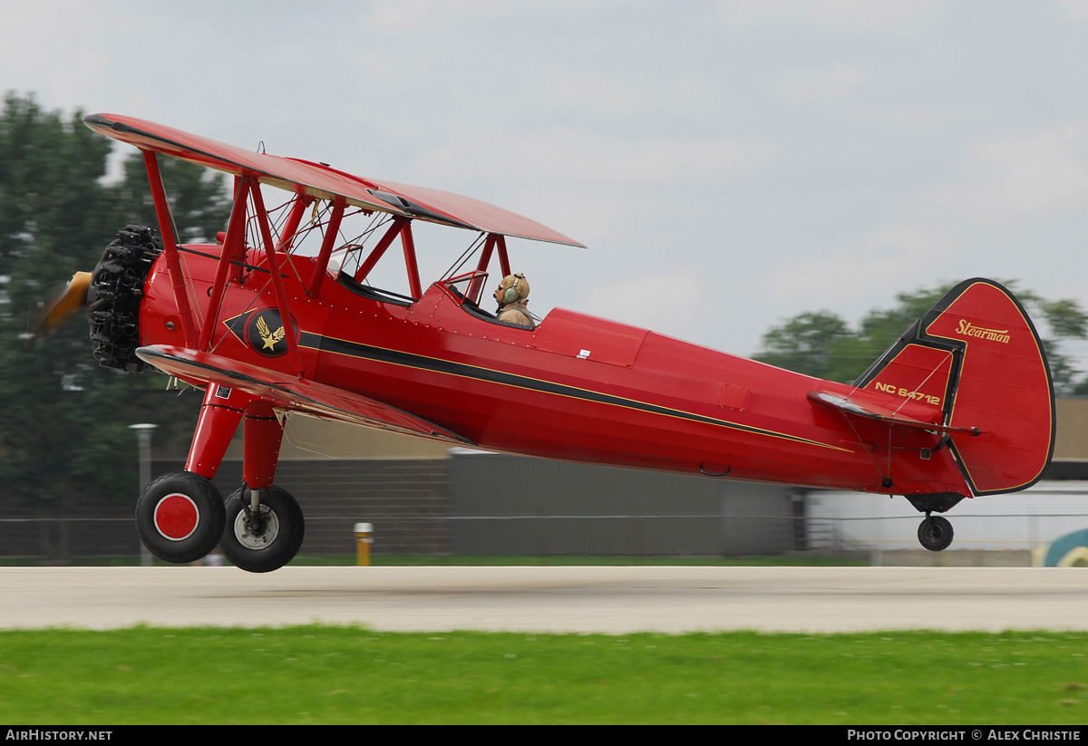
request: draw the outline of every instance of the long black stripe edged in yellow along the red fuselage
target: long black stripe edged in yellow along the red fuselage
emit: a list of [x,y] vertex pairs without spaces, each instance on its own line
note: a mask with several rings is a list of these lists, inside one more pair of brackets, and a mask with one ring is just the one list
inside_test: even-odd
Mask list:
[[366,358],[368,360],[376,360],[379,362],[392,363],[394,365],[404,365],[406,368],[434,371],[436,373],[446,373],[449,375],[456,375],[465,378],[474,378],[477,381],[487,381],[490,383],[502,384],[504,386],[514,386],[516,388],[526,388],[534,391],[544,391],[546,394],[555,394],[557,396],[566,396],[574,399],[582,399],[585,401],[596,401],[604,405],[613,405],[615,407],[626,407],[628,409],[635,409],[643,412],[651,412],[653,414],[664,414],[666,416],[675,416],[683,420],[691,420],[693,422],[703,422],[709,425],[730,427],[732,430],[739,430],[745,433],[754,433],[756,435],[767,435],[776,438],[784,438],[787,440],[793,440],[795,443],[804,443],[811,446],[819,446],[821,448],[831,448],[833,450],[846,450],[843,448],[838,448],[836,446],[828,445],[826,443],[819,443],[818,440],[809,440],[807,438],[802,438],[796,435],[787,435],[784,433],[776,433],[774,431],[762,430],[759,427],[751,427],[749,425],[741,425],[734,422],[727,422],[725,420],[716,420],[715,418],[704,416],[702,414],[694,414],[693,412],[685,412],[679,409],[670,409],[668,407],[659,407],[657,405],[646,403],[645,401],[638,401],[635,399],[626,399],[623,397],[611,396],[609,394],[602,394],[599,391],[594,391],[586,388],[578,388],[577,386],[566,386],[562,384],[553,383],[551,381],[542,381],[540,378],[531,378],[524,375],[504,373],[503,371],[496,371],[490,368],[479,368],[477,365],[452,362],[449,360],[442,360],[440,358],[429,358],[422,355],[401,352],[399,350],[391,350],[384,347],[363,345],[361,343],[348,341],[346,339],[336,339],[335,337],[322,337],[320,335],[311,334],[309,332],[302,333],[300,344],[302,345],[302,347],[320,349],[323,352],[346,355],[353,358]]

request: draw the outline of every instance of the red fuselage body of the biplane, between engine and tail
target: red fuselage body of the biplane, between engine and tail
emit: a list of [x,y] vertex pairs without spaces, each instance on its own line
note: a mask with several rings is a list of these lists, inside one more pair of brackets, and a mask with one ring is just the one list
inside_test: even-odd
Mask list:
[[[185,253],[190,302],[202,319],[222,247],[189,248],[211,254]],[[814,389],[849,394],[849,386],[561,309],[535,330],[495,323],[442,283],[408,303],[327,276],[308,297],[313,266],[292,257],[281,268],[305,377],[480,447],[731,480],[970,495],[948,449],[919,458],[937,435],[848,421],[806,398]],[[286,381],[296,376],[288,356],[275,352],[274,324],[255,324],[276,307],[269,278],[258,270],[227,286],[211,352]],[[140,344],[183,346],[176,309],[160,257],[140,306]],[[889,474],[891,487],[882,483]]]

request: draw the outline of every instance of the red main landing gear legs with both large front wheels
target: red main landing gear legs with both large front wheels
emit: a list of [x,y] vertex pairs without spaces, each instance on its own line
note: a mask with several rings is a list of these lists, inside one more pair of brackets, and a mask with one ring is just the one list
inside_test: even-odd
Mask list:
[[[244,419],[244,486],[224,503],[212,477]],[[152,555],[168,562],[194,562],[219,544],[236,567],[271,572],[302,546],[302,511],[290,494],[272,484],[283,424],[268,401],[209,384],[185,471],[149,484],[136,502],[136,529]]]

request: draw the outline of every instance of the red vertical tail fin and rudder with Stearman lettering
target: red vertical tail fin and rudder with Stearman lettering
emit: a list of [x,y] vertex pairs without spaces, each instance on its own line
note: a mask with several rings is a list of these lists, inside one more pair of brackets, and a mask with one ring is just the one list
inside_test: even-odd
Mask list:
[[[857,380],[908,393],[915,419],[949,427],[949,447],[976,495],[1035,484],[1054,449],[1054,387],[1024,307],[989,279],[960,283]],[[927,416],[927,414],[929,416]]]

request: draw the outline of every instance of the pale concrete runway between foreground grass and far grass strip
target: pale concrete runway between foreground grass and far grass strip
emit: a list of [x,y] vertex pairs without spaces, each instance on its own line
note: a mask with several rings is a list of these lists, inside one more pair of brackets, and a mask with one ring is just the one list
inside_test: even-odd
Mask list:
[[0,568],[0,627],[1088,630],[1063,568]]

